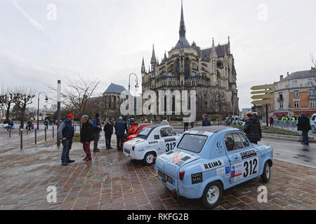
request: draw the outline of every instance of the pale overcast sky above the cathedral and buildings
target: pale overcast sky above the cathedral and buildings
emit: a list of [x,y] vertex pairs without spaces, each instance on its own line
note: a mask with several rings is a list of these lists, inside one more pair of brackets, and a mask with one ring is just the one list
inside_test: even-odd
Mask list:
[[[239,109],[250,87],[308,70],[316,54],[315,0],[184,0],[187,40],[201,48],[231,41]],[[55,10],[56,9],[56,10]],[[56,13],[55,13],[56,12]],[[128,86],[178,41],[180,0],[0,0],[0,83],[44,84],[77,76]],[[134,82],[134,78],[132,79]],[[132,85],[134,83],[132,82]],[[44,100],[41,100],[44,102]]]

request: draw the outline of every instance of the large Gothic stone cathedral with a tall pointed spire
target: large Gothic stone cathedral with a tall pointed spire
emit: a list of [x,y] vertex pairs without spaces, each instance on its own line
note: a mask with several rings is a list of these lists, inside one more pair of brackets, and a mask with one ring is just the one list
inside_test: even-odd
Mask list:
[[[190,44],[185,36],[185,20],[181,3],[179,40],[165,53],[162,60],[155,56],[154,46],[148,70],[143,63],[142,91],[196,90],[197,118],[203,113],[239,114],[236,69],[228,43],[214,44],[202,49],[195,42]],[[174,109],[174,106],[173,106]]]

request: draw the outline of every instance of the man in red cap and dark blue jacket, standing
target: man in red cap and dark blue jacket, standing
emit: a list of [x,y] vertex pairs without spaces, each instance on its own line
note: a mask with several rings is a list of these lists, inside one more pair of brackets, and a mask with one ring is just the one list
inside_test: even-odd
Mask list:
[[69,157],[70,149],[72,148],[72,139],[74,137],[74,123],[72,123],[72,120],[74,120],[74,116],[69,114],[67,119],[60,123],[58,128],[58,136],[62,139],[62,166],[67,166],[68,163],[74,162],[74,160],[70,160]]

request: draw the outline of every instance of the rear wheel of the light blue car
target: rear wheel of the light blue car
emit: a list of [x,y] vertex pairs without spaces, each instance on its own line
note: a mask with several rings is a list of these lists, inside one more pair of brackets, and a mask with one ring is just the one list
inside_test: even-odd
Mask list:
[[218,182],[209,183],[203,193],[203,204],[207,209],[214,209],[217,207],[223,195],[223,187]]

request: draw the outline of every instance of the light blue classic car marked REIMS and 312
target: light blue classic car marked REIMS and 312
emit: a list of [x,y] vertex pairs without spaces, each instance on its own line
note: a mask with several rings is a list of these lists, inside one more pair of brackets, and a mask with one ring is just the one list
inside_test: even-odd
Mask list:
[[197,127],[185,132],[173,151],[155,158],[154,169],[173,196],[202,197],[213,209],[223,190],[258,176],[268,183],[272,159],[272,146],[251,144],[240,130]]

